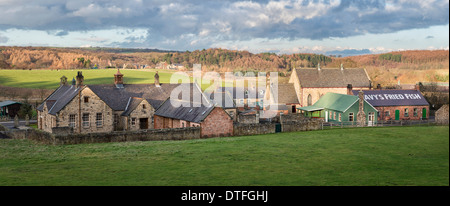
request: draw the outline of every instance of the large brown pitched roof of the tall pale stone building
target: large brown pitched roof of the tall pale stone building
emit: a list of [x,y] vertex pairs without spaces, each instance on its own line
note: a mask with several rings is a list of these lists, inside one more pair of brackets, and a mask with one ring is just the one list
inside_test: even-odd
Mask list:
[[296,69],[302,87],[370,87],[370,78],[365,69]]

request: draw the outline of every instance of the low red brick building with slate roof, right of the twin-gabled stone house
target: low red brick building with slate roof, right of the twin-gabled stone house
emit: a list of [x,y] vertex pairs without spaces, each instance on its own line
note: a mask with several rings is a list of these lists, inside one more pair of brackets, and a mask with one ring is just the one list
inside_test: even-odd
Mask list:
[[[154,128],[201,127],[202,138],[232,136],[233,118],[222,107],[212,104],[196,84],[192,85],[190,101],[169,98],[155,111]],[[194,101],[194,93],[201,100]]]

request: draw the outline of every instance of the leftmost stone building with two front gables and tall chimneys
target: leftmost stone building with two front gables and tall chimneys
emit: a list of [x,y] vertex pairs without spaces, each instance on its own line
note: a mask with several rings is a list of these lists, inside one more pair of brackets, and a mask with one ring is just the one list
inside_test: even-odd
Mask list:
[[71,85],[61,79],[58,89],[37,107],[39,129],[71,127],[75,133],[149,129],[155,110],[181,85],[160,84],[158,74],[154,84],[124,84],[119,70],[114,84],[83,82],[82,72]]

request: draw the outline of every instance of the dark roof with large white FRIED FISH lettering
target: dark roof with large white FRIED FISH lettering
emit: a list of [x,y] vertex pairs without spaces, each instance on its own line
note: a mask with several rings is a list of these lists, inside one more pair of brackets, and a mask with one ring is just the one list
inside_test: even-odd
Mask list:
[[[358,95],[359,90],[352,92]],[[363,90],[363,92],[364,99],[374,107],[429,105],[418,90]]]

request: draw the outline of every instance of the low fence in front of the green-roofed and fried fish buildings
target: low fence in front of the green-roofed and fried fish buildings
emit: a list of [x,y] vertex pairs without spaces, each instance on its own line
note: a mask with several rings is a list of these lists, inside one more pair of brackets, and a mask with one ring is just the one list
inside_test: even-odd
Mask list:
[[[434,119],[425,120],[387,120],[366,124],[364,127],[391,127],[391,126],[412,126],[412,125],[434,125]],[[323,122],[321,129],[351,128],[359,127],[357,122]]]

